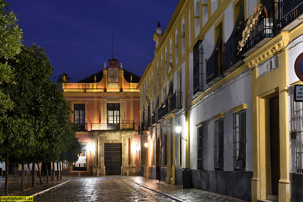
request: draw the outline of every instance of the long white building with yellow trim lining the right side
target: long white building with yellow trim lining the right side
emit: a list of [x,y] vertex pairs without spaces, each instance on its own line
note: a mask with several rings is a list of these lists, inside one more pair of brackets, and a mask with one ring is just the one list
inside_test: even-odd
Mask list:
[[303,200],[302,13],[301,1],[179,1],[137,86],[142,177]]

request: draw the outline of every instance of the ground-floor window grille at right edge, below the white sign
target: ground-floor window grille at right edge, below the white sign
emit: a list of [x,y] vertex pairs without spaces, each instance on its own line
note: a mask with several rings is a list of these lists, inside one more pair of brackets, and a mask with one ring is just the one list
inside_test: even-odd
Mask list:
[[303,174],[303,118],[302,103],[295,102],[296,164],[297,173]]

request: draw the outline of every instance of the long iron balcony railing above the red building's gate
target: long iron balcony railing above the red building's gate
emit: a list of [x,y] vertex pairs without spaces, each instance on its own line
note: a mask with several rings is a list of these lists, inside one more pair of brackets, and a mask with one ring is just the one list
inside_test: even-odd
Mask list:
[[135,123],[91,123],[91,130],[135,130]]

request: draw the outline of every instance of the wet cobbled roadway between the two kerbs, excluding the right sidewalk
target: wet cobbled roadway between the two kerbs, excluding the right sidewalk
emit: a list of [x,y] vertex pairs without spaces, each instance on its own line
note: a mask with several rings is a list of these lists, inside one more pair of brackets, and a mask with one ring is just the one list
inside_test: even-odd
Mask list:
[[175,201],[128,181],[123,176],[70,179],[63,186],[36,196],[34,201]]

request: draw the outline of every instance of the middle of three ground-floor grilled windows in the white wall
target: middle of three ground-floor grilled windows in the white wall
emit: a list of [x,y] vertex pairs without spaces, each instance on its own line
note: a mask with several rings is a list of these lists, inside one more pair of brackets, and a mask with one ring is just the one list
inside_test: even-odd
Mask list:
[[215,171],[224,169],[224,126],[223,118],[214,121]]

